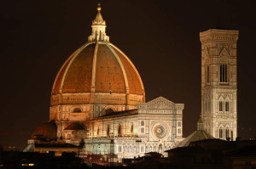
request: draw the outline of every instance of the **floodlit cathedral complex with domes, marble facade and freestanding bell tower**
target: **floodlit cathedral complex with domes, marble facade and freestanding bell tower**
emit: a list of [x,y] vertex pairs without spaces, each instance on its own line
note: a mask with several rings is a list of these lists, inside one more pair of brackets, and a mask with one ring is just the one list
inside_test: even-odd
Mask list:
[[[145,102],[143,81],[131,60],[109,42],[98,4],[91,35],[61,66],[52,87],[49,121],[28,140],[83,144],[82,155],[134,158],[164,153],[183,141],[184,104],[159,97]],[[209,30],[201,37],[201,130],[236,138],[238,31]]]

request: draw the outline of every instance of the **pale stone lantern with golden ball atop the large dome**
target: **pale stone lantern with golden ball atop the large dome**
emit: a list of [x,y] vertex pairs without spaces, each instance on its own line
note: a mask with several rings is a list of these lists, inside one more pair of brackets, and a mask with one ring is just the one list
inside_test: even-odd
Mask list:
[[92,20],[92,32],[91,35],[88,37],[88,41],[105,41],[109,42],[109,37],[106,34],[106,21],[103,20],[102,14],[101,14],[101,3],[97,4],[97,11],[95,20]]

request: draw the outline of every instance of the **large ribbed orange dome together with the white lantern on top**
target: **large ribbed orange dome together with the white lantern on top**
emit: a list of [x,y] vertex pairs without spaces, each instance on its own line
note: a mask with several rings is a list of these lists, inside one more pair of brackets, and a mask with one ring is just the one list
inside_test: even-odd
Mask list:
[[[143,82],[131,60],[109,42],[98,8],[92,34],[61,66],[52,87],[51,105],[144,102]],[[63,97],[60,98],[60,95]],[[83,95],[83,96],[82,96]],[[109,98],[109,95],[112,95]],[[119,102],[119,103],[117,103]]]

